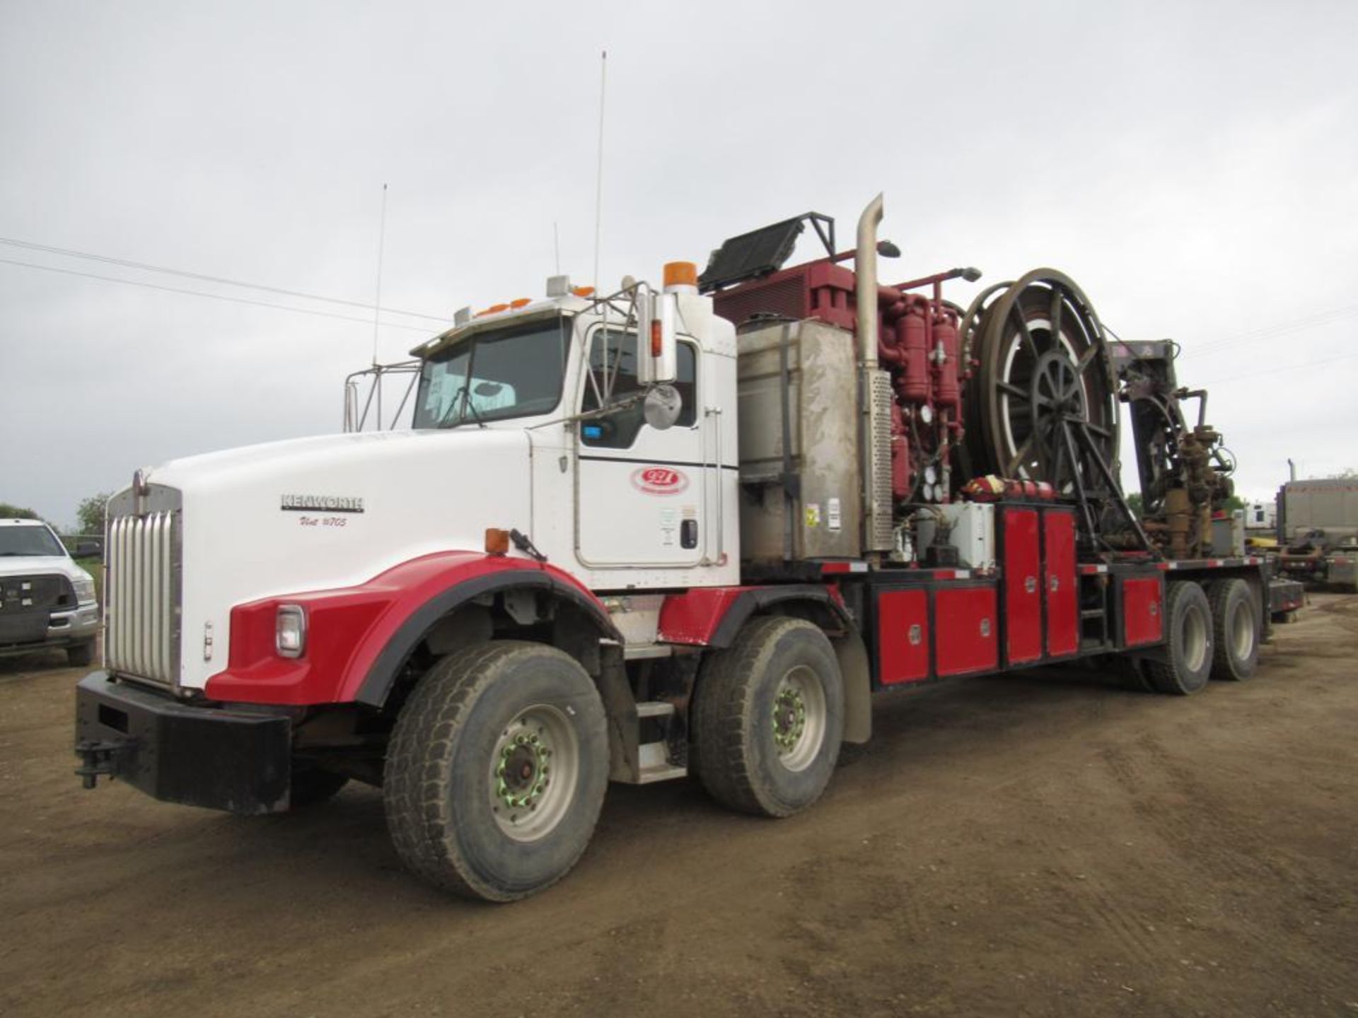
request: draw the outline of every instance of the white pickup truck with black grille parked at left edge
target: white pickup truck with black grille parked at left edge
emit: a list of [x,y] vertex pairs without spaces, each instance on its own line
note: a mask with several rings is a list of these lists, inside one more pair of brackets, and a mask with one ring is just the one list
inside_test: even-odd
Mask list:
[[94,577],[42,520],[0,520],[0,654],[65,647],[88,665],[98,635]]

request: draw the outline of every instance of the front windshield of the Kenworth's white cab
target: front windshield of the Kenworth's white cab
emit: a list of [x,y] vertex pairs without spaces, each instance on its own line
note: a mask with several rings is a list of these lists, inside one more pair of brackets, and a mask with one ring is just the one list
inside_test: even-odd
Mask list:
[[546,414],[561,402],[570,319],[477,333],[420,369],[416,428]]

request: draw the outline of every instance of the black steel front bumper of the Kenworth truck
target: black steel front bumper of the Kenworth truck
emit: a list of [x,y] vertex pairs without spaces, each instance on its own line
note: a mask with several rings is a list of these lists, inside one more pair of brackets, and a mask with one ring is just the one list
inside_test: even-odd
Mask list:
[[288,808],[292,722],[193,706],[94,672],[76,687],[76,771],[121,778],[164,802],[277,813]]

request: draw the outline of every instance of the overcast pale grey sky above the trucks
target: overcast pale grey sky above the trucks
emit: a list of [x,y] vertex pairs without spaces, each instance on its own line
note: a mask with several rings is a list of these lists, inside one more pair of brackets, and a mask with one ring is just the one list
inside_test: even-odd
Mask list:
[[[899,278],[1173,337],[1237,487],[1358,466],[1358,4],[0,0],[0,238],[447,315],[885,191]],[[807,254],[813,254],[809,246]],[[369,312],[0,243],[0,501],[338,430]],[[363,320],[367,319],[367,320]],[[439,323],[384,314],[380,360]]]

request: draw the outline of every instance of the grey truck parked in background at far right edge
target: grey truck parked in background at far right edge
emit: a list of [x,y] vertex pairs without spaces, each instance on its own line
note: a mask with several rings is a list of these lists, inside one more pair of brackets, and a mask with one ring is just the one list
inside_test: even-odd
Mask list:
[[1279,565],[1296,580],[1358,590],[1358,478],[1278,489]]

